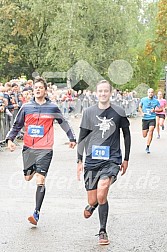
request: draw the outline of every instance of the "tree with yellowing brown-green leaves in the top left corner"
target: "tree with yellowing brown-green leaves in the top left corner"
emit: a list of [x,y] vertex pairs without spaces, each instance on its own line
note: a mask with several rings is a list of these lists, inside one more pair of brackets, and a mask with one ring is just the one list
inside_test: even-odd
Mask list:
[[47,29],[58,6],[52,1],[49,7],[47,4],[41,0],[1,3],[0,48],[4,75],[12,77],[24,72],[30,76],[45,66],[49,50]]

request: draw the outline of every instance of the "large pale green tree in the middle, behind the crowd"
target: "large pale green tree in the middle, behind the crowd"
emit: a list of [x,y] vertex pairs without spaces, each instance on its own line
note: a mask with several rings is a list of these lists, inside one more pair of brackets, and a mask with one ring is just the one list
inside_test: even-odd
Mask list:
[[[52,56],[56,63],[53,69],[58,65],[61,71],[65,71],[78,60],[85,60],[107,78],[108,68],[114,60],[125,59],[132,63],[130,48],[134,44],[134,29],[131,23],[134,26],[139,23],[138,2],[80,0],[71,5],[64,4],[50,28],[48,57]],[[57,25],[60,29],[55,33]],[[137,33],[136,30],[136,36]]]

